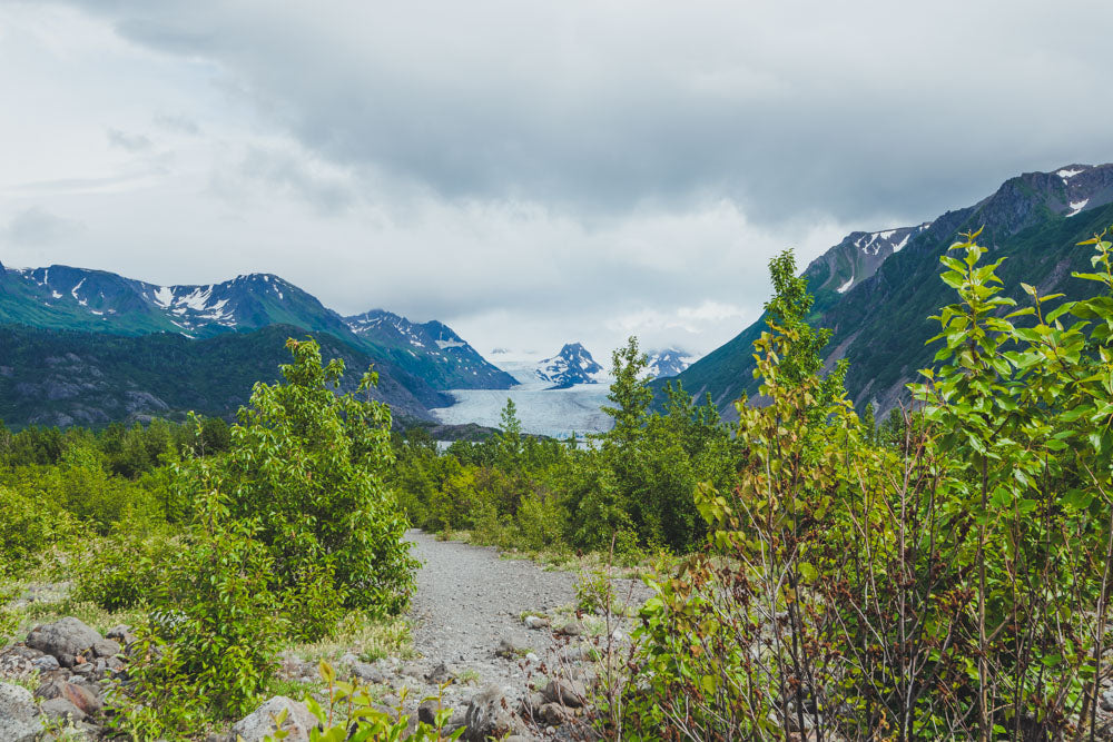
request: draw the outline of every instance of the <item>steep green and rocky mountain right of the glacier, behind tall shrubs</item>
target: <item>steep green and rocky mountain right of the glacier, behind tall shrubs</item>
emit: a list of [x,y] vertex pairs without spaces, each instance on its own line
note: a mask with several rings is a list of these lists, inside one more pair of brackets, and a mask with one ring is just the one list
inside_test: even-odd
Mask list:
[[[1021,280],[1048,294],[1092,293],[1091,281],[1071,277],[1090,270],[1089,247],[1077,243],[1113,225],[1113,165],[1070,165],[1006,180],[983,200],[915,227],[853,233],[804,271],[816,297],[808,321],[833,330],[828,367],[849,360],[847,392],[863,408],[881,414],[906,400],[905,385],[932,364],[925,342],[937,325],[928,317],[954,301],[939,280],[939,256],[959,234],[984,228],[978,241],[988,259],[1008,259],[998,270],[1008,294],[1023,306]],[[680,374],[693,395],[711,394],[720,410],[737,417],[733,400],[757,392],[754,340],[765,317]],[[660,388],[654,383],[654,388]]]

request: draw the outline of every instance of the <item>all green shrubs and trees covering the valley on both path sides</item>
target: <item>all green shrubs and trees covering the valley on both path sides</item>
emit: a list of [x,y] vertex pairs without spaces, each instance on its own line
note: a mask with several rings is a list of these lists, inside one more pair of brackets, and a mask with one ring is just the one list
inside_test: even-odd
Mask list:
[[[1021,284],[1022,303],[977,237],[942,257],[935,357],[879,427],[847,367],[825,372],[831,336],[786,253],[755,342],[762,404],[738,400],[737,425],[679,384],[654,410],[631,338],[614,427],[587,441],[524,435],[509,400],[482,442],[392,436],[357,396],[374,376],[337,394],[344,365],[313,340],[287,343],[285,382],[256,385],[230,428],[0,426],[0,578],[67,550],[70,600],[132,612],[114,723],[142,739],[200,736],[272,687],[279,647],[404,610],[408,522],[672,555],[628,662],[610,640],[601,657],[594,721],[613,739],[1093,739],[1113,680],[1113,245],[1085,243],[1085,298]],[[577,601],[609,620],[607,574]],[[401,710],[322,673],[315,739],[402,734]]]

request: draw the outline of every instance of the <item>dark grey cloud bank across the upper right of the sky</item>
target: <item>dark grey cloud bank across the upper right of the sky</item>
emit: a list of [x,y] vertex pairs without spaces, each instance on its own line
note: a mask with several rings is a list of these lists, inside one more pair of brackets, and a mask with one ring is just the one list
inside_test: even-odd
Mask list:
[[757,219],[920,218],[1113,148],[1106,3],[90,8],[217,61],[337,164],[584,218],[708,192]]

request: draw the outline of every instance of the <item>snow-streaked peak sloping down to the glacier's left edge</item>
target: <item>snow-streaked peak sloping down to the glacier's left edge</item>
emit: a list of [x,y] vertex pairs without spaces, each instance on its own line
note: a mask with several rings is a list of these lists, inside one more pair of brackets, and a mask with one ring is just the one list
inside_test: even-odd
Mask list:
[[509,389],[518,383],[442,323],[416,324],[383,309],[344,323],[364,344],[384,349],[398,367],[437,389]]

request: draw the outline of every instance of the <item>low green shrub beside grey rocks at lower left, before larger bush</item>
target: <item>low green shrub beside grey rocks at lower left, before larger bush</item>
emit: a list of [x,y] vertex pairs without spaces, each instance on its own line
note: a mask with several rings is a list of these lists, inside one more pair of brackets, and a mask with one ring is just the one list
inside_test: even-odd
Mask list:
[[127,695],[115,699],[115,724],[140,739],[196,734],[211,714],[246,714],[277,667],[286,622],[258,525],[227,520],[216,491],[201,512],[138,627]]

